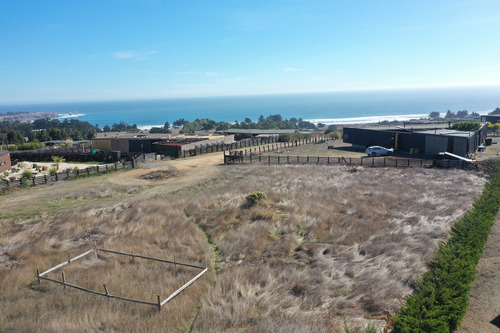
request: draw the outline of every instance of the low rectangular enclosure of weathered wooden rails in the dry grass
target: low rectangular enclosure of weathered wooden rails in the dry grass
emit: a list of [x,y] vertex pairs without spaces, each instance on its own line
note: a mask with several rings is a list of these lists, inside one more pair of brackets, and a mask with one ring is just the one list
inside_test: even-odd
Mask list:
[[[169,263],[169,264],[173,264],[175,267],[177,265],[179,265],[179,266],[185,266],[185,267],[191,267],[191,268],[195,268],[195,269],[200,269],[201,272],[198,273],[195,277],[193,277],[188,282],[186,282],[186,280],[184,279],[184,284],[180,288],[178,288],[176,291],[174,291],[172,294],[170,294],[165,300],[162,301],[161,298],[160,298],[160,295],[157,294],[155,302],[149,302],[149,301],[144,301],[144,300],[138,300],[138,299],[132,299],[132,298],[127,298],[127,297],[123,297],[123,296],[113,295],[113,294],[111,294],[109,292],[108,286],[105,283],[103,283],[104,292],[90,290],[90,289],[78,286],[76,284],[67,282],[66,275],[64,274],[64,272],[61,272],[61,280],[56,280],[56,279],[49,278],[49,277],[45,276],[48,273],[50,273],[52,271],[55,271],[55,270],[57,270],[57,269],[59,269],[61,267],[64,267],[64,266],[68,265],[69,263],[71,263],[73,261],[76,261],[76,260],[78,260],[80,258],[83,258],[83,257],[85,257],[85,256],[87,256],[89,254],[95,253],[95,255],[97,256],[97,253],[99,251],[106,252],[106,253],[117,254],[117,255],[130,256],[130,257],[134,258],[134,260],[135,260],[135,258],[139,258],[139,259],[146,259],[146,260],[158,261],[158,262],[163,262],[163,263]],[[206,265],[205,265],[205,267],[203,267],[203,266],[199,266],[199,265],[193,265],[193,264],[186,264],[186,263],[182,263],[182,262],[177,262],[175,260],[175,256],[174,256],[174,260],[173,261],[172,260],[166,260],[166,259],[153,258],[153,257],[138,255],[138,254],[134,254],[134,253],[126,253],[126,252],[120,252],[120,251],[102,249],[102,248],[97,247],[97,245],[94,242],[94,248],[93,249],[91,249],[91,250],[89,250],[87,252],[84,252],[84,253],[82,253],[82,254],[74,257],[74,258],[70,258],[69,254],[68,254],[68,260],[67,261],[62,262],[59,265],[56,265],[56,266],[54,266],[54,267],[46,270],[43,273],[40,273],[40,271],[37,269],[36,270],[36,277],[38,279],[38,283],[41,283],[41,280],[46,280],[46,281],[54,282],[54,283],[57,283],[57,284],[62,284],[65,288],[66,287],[75,288],[75,289],[78,289],[78,290],[81,290],[81,291],[85,291],[85,292],[88,292],[88,293],[91,293],[91,294],[94,294],[94,295],[105,296],[108,299],[115,298],[115,299],[119,299],[119,300],[122,300],[122,301],[128,301],[128,302],[133,302],[133,303],[140,303],[140,304],[145,304],[145,305],[156,306],[156,307],[158,307],[158,310],[160,311],[161,308],[162,308],[162,306],[164,306],[165,304],[167,304],[175,296],[179,295],[184,289],[186,289],[187,287],[189,287],[193,282],[195,282],[196,280],[198,280],[203,274],[205,274],[207,272],[207,270],[208,270],[208,268],[206,267]]]

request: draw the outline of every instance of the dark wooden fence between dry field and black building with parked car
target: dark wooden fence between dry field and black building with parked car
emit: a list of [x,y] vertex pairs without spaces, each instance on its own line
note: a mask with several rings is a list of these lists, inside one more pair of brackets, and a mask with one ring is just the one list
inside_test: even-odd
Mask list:
[[400,158],[400,157],[321,157],[321,156],[261,156],[224,154],[224,163],[241,164],[317,164],[317,165],[349,165],[365,167],[430,167],[432,160]]

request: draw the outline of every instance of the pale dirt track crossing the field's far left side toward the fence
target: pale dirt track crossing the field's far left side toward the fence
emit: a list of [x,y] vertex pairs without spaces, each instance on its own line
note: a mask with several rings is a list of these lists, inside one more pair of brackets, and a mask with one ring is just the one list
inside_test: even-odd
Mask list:
[[[0,196],[0,220],[39,219],[70,209],[86,210],[115,205],[117,202],[147,199],[215,177],[223,169],[223,162],[222,153],[205,154],[145,163],[139,169],[125,172],[19,189]],[[155,171],[167,171],[169,176],[163,179],[144,177]],[[26,205],[19,205],[19,202],[25,202]]]

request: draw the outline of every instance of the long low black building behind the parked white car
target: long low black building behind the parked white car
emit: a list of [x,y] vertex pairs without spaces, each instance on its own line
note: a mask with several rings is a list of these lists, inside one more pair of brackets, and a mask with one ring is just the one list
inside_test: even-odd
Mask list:
[[449,128],[350,128],[344,127],[343,140],[353,145],[383,146],[395,152],[433,156],[448,152],[459,156],[475,153],[486,139],[488,126],[483,124],[475,132],[456,131]]

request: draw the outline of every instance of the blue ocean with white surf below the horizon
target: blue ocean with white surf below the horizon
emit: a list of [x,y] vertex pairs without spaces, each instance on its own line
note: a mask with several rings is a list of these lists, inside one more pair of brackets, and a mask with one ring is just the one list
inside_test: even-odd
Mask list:
[[101,128],[123,121],[146,129],[180,118],[241,122],[280,114],[314,123],[349,124],[422,118],[432,111],[487,114],[497,107],[500,87],[473,87],[0,105],[0,113],[55,112]]

